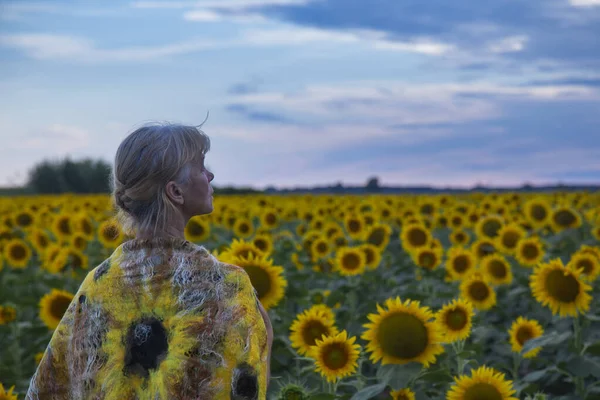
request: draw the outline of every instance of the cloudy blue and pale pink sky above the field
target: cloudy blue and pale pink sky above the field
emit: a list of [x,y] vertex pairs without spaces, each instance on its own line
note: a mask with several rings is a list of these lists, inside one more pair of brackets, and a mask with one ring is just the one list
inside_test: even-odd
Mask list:
[[215,186],[600,184],[600,0],[0,0],[0,186],[199,125]]

